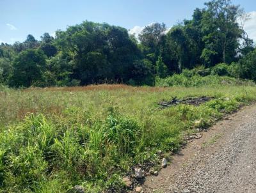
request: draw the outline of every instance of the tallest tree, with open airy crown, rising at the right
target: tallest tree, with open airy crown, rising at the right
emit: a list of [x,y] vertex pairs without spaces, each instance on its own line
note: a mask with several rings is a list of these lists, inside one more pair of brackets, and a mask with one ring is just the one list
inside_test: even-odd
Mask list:
[[205,62],[212,58],[209,65],[230,63],[236,57],[242,33],[237,23],[239,6],[234,6],[230,0],[212,0],[205,5],[202,17],[205,49],[201,58]]

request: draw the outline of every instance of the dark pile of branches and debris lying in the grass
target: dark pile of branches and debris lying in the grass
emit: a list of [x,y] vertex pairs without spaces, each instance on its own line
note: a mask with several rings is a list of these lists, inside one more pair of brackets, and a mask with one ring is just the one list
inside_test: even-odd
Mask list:
[[158,104],[161,105],[161,107],[172,107],[178,104],[199,106],[200,104],[204,104],[212,99],[214,99],[214,96],[189,97],[185,99],[177,99],[177,97],[173,97],[170,101],[162,101]]

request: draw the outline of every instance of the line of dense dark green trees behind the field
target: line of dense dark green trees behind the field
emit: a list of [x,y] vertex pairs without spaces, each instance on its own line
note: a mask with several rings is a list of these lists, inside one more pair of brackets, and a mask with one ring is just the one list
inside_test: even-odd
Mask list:
[[[197,66],[232,65],[256,81],[256,50],[244,31],[249,17],[229,0],[196,8],[191,20],[167,30],[146,26],[138,38],[124,27],[84,21],[36,40],[0,45],[0,83],[13,87],[77,86],[103,82],[154,85]],[[254,73],[255,72],[255,73]]]

